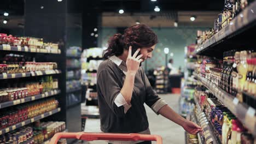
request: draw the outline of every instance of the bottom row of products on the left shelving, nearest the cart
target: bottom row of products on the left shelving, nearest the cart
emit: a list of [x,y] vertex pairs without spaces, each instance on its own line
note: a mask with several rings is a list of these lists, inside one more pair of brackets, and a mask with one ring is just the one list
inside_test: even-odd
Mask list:
[[10,133],[0,135],[0,143],[45,143],[54,134],[66,130],[65,122],[40,122],[36,121],[28,127],[22,127]]

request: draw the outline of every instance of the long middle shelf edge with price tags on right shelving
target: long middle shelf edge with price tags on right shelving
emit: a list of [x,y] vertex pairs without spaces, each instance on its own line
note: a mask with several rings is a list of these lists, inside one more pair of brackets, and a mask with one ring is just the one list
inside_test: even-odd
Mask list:
[[223,91],[207,81],[205,78],[193,73],[197,80],[201,81],[202,84],[207,87],[222,103],[228,107],[228,109],[245,125],[249,131],[256,136],[256,116],[255,109],[244,103],[240,103],[239,100],[229,93]]

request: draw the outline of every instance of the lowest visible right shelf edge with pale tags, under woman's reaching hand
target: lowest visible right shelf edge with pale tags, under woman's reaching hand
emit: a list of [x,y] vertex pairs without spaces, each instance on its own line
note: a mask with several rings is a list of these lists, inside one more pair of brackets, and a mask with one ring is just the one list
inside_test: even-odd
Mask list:
[[212,129],[209,123],[210,121],[206,117],[205,113],[202,111],[197,99],[194,99],[197,105],[197,115],[194,115],[194,117],[196,119],[197,124],[199,124],[203,129],[200,133],[197,134],[198,139],[200,139],[199,141],[202,142],[201,137],[203,136],[205,137],[206,143],[209,143],[208,141],[213,141],[213,144],[221,143],[218,137],[216,137],[216,135],[214,134],[214,130]]

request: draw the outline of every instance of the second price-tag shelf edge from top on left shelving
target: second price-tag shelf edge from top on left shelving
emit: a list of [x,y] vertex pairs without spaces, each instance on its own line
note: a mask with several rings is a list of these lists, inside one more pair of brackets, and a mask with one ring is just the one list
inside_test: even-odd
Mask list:
[[40,75],[52,75],[60,74],[61,70],[44,70],[44,71],[31,71],[29,73],[16,73],[16,74],[0,74],[0,80],[2,79],[14,79],[19,77],[31,77],[31,76],[40,76]]

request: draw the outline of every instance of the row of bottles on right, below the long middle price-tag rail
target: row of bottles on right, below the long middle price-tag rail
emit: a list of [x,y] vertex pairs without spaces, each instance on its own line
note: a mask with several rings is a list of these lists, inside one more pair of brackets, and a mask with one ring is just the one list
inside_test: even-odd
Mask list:
[[252,132],[229,111],[228,107],[223,105],[213,94],[206,91],[206,88],[196,87],[194,95],[196,106],[205,112],[207,123],[210,124],[217,141],[248,144],[255,142]]

